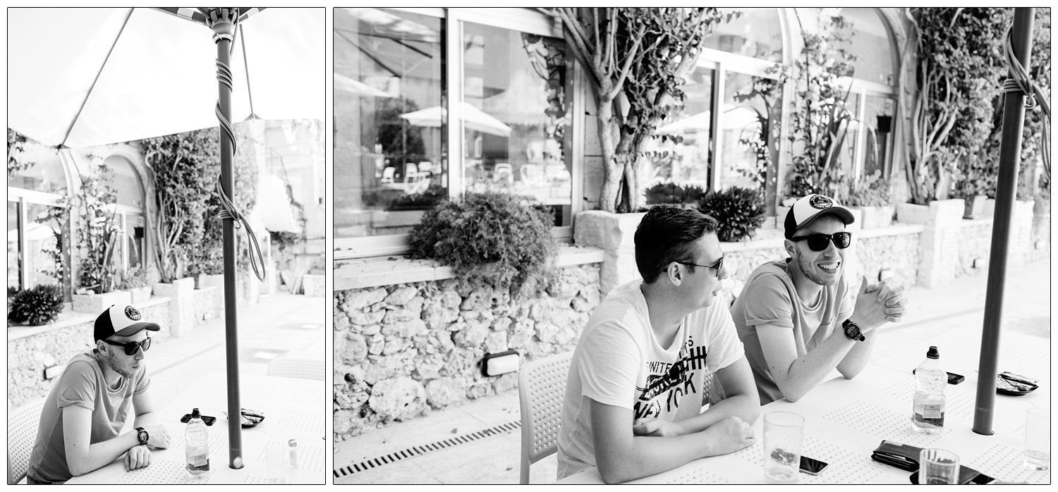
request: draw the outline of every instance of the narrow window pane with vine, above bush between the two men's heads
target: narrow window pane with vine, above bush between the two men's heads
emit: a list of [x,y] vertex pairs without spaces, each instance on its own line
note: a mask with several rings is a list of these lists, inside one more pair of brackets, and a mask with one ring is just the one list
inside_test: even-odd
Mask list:
[[764,188],[778,159],[782,86],[774,79],[728,72],[720,114],[720,188]]

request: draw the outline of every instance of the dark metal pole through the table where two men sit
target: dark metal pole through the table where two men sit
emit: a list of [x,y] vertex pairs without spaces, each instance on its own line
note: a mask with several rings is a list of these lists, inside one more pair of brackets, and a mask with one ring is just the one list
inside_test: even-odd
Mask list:
[[[1033,12],[1030,7],[1014,10],[1010,43],[1014,55],[1028,68],[1033,48]],[[1014,70],[1009,71],[1014,78]],[[1003,317],[1003,289],[1006,279],[1007,242],[1018,166],[1021,164],[1021,130],[1025,122],[1025,93],[1010,91],[1003,96],[1003,138],[999,150],[999,182],[996,185],[996,216],[992,222],[991,255],[988,259],[988,293],[985,297],[985,321],[981,331],[981,361],[978,366],[978,399],[973,412],[973,432],[992,435],[992,411],[996,407],[996,375],[999,362],[1000,322]],[[988,104],[982,101],[981,104]]]

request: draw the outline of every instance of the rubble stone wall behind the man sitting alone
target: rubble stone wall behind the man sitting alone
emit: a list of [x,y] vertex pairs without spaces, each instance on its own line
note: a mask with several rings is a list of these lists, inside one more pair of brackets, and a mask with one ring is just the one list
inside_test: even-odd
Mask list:
[[[168,302],[138,306],[144,320],[162,328],[150,333],[154,340],[171,336]],[[94,316],[77,313],[86,321],[59,328],[7,340],[7,401],[13,407],[47,397],[58,378],[44,379],[44,369],[54,365],[66,367],[74,356],[91,350]],[[8,328],[8,332],[12,328]]]

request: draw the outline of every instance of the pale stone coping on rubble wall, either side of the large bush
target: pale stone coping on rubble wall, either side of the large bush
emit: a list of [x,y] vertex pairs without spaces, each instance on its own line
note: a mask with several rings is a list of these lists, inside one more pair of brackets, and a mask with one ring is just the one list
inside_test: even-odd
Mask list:
[[[598,248],[559,245],[559,267],[599,263],[603,251]],[[394,286],[414,281],[436,281],[455,278],[452,267],[432,259],[408,259],[403,256],[378,256],[334,262],[334,291]]]

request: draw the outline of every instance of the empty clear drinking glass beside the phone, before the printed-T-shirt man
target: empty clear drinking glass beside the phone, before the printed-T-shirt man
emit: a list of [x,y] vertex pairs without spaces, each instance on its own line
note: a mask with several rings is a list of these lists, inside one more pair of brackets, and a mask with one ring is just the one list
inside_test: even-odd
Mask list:
[[797,484],[803,439],[804,417],[789,412],[765,414],[765,481],[768,484]]

